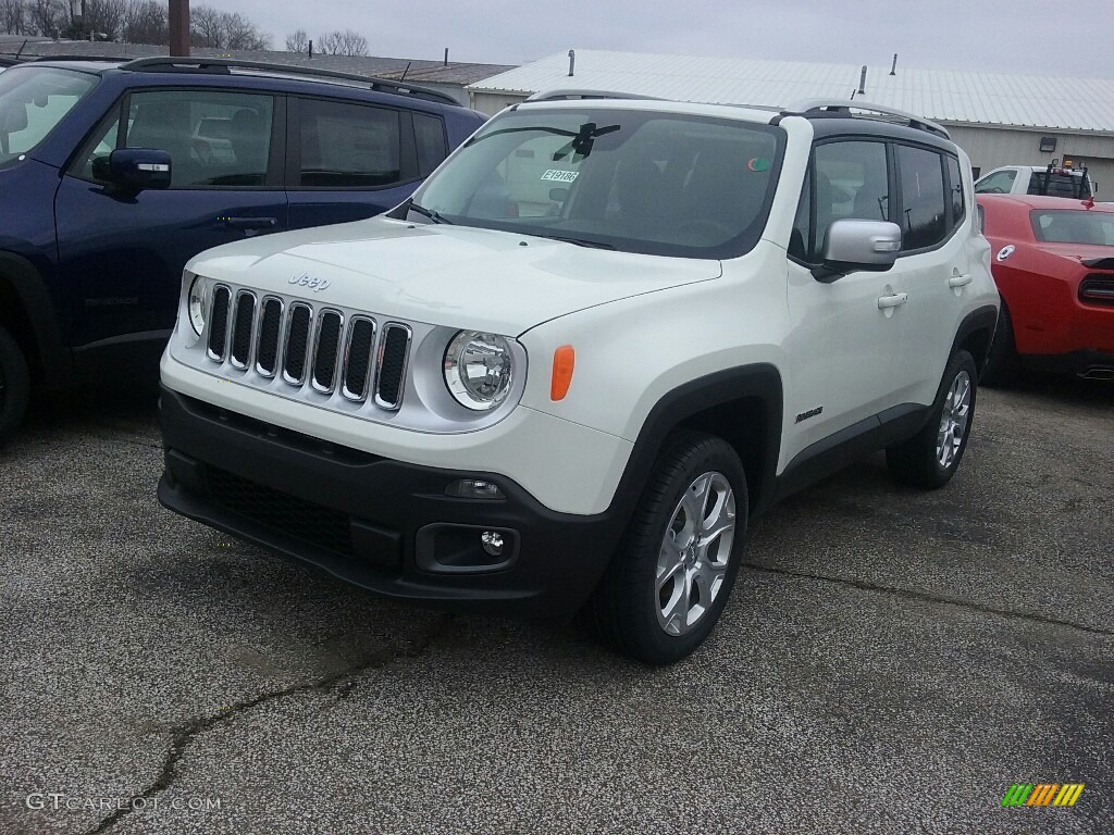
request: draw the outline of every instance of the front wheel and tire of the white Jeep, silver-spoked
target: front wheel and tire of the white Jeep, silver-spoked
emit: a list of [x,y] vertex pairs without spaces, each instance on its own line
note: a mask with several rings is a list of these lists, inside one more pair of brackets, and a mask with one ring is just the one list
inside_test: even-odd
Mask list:
[[743,465],[725,441],[671,439],[592,600],[603,639],[653,665],[688,656],[712,631],[746,532]]

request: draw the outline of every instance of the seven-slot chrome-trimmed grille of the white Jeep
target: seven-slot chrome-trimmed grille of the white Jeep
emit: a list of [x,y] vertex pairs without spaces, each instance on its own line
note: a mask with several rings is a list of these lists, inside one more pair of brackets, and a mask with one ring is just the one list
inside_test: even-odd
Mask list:
[[387,411],[402,404],[409,325],[223,284],[209,298],[203,338],[212,362],[267,380],[277,375],[292,390],[340,392],[353,403],[370,397]]

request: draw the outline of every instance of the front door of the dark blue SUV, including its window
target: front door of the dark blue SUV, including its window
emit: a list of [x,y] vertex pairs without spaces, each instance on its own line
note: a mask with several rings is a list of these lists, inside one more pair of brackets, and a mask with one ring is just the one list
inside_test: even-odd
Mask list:
[[[55,199],[76,348],[157,347],[174,326],[186,261],[287,227],[283,109],[270,94],[159,88],[126,95],[102,119]],[[116,148],[169,153],[170,187],[134,194],[98,180],[95,160]]]

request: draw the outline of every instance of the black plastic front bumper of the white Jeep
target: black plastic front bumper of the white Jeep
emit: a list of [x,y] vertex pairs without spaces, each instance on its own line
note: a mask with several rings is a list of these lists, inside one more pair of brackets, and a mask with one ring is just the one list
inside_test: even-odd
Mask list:
[[[163,389],[164,507],[385,597],[446,608],[571,613],[623,522],[556,513],[515,482],[338,446]],[[446,494],[461,479],[504,499]],[[487,554],[485,531],[504,551]]]

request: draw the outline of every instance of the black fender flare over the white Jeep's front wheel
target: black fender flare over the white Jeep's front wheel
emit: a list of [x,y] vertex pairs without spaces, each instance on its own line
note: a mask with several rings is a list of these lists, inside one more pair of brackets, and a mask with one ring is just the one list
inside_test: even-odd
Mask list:
[[759,502],[752,514],[756,514],[772,503],[778,475],[778,459],[781,454],[781,424],[783,392],[781,374],[769,363],[754,363],[713,372],[692,380],[663,395],[649,410],[635,440],[626,469],[612,501],[610,511],[629,520],[654,463],[661,453],[665,439],[677,426],[716,406],[740,400],[758,400],[764,412],[764,433],[761,449],[762,460],[758,462],[760,477],[756,484],[750,484]]

